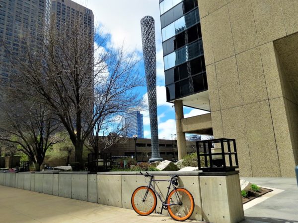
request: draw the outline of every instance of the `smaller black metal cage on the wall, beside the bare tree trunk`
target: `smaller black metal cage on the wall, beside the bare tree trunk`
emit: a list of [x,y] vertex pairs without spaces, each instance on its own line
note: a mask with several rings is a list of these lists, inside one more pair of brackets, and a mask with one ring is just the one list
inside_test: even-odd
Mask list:
[[88,171],[105,172],[112,169],[111,153],[89,153],[88,154]]

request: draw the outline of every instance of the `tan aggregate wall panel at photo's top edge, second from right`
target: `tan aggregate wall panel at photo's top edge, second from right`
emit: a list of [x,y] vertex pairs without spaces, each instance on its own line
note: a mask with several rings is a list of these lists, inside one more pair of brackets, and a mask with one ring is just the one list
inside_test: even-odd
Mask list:
[[259,45],[286,36],[280,0],[252,0],[251,4]]

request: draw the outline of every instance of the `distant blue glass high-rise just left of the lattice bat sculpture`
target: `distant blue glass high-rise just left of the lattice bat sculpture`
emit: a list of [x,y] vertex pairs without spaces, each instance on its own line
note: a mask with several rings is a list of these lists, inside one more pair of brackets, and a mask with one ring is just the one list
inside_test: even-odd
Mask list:
[[127,137],[138,135],[138,138],[144,138],[143,114],[140,111],[126,114],[122,118],[122,125],[125,126],[124,132]]

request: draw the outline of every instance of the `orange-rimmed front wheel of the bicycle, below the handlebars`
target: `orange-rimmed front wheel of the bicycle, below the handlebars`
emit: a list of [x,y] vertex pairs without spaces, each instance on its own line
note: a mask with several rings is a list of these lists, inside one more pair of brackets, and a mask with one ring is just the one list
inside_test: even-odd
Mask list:
[[146,186],[138,187],[132,195],[133,209],[139,215],[150,215],[155,210],[156,204],[157,199],[155,193],[151,188],[147,188]]

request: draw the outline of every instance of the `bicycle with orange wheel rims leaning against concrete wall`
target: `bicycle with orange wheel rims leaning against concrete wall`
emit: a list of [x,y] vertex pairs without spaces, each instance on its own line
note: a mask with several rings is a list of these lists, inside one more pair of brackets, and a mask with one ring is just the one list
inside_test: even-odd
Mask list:
[[[193,213],[195,202],[192,194],[185,188],[176,187],[178,185],[178,175],[168,175],[171,179],[165,180],[154,180],[154,175],[143,174],[145,177],[149,177],[150,181],[147,186],[138,187],[132,194],[131,202],[133,209],[139,215],[147,216],[150,215],[156,208],[157,197],[162,203],[161,211],[157,214],[162,214],[162,210],[167,210],[169,215],[177,221],[187,220]],[[163,195],[156,191],[155,186],[152,184],[154,181],[168,181],[169,186],[165,199],[163,200]],[[171,185],[173,190],[171,192]]]

